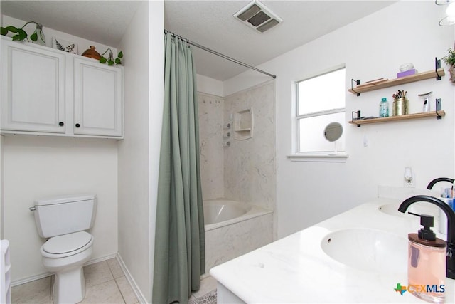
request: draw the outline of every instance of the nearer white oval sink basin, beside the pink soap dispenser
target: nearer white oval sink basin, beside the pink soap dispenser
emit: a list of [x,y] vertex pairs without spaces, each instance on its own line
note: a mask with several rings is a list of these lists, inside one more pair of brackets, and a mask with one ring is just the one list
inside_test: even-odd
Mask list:
[[334,260],[363,271],[407,271],[405,236],[375,229],[343,229],[328,234],[321,248]]

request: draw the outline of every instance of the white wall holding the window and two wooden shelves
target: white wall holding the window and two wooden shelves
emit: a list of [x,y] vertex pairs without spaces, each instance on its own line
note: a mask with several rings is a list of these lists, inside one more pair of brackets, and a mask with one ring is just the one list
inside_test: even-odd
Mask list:
[[[345,63],[347,91],[351,78],[362,82],[396,78],[402,63],[412,62],[421,72],[432,70],[434,57],[445,56],[454,43],[454,27],[438,26],[443,11],[434,1],[400,1],[259,65],[277,75],[279,237],[373,199],[380,184],[402,187],[405,167],[412,167],[419,188],[435,177],[455,177],[454,87],[448,75],[438,82],[424,80],[360,97],[346,93],[346,122],[353,110],[378,115],[380,99],[392,100],[396,90],[408,91],[411,112],[422,109],[417,94],[433,91],[433,100],[442,98],[444,119],[360,128],[347,124],[350,157],[346,163],[291,162],[287,158],[292,152],[294,81]],[[225,81],[224,91],[228,95],[263,81],[264,76],[248,71]],[[364,137],[368,147],[363,146]]]

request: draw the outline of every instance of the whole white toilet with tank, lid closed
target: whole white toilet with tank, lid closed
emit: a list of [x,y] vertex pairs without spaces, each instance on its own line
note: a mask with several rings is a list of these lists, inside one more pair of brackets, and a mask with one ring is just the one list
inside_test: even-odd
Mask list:
[[54,303],[77,303],[85,297],[82,266],[92,255],[95,194],[57,196],[35,201],[38,234],[48,239],[40,248],[43,266],[55,273]]

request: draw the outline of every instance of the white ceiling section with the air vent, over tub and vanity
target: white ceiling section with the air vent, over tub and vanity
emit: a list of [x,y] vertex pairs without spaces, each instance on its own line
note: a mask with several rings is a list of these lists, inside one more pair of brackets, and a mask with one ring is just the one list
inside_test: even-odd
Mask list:
[[[265,33],[258,33],[232,16],[248,3],[248,0],[165,1],[164,28],[256,66],[393,2],[263,0],[267,8],[283,19],[282,23]],[[335,49],[342,47],[333,46]],[[194,57],[198,74],[218,80],[232,78],[246,70],[197,48],[194,49]],[[273,70],[266,72],[274,74]]]

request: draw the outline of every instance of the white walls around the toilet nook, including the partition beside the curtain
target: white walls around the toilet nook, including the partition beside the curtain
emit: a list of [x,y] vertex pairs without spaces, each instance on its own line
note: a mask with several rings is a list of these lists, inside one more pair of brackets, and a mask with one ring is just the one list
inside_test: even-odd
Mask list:
[[[1,18],[2,25],[24,23]],[[43,31],[48,46],[57,36],[78,43],[79,53],[91,45],[98,50],[108,47],[50,28]],[[95,192],[99,199],[92,258],[114,256],[118,251],[134,287],[139,288],[140,300],[151,302],[164,98],[163,33],[164,2],[144,1],[120,43],[124,53],[124,140],[1,138],[1,185],[5,192],[0,234],[11,241],[14,281],[28,281],[45,273],[39,253],[43,240],[36,234],[33,214],[28,211],[33,200]]]

